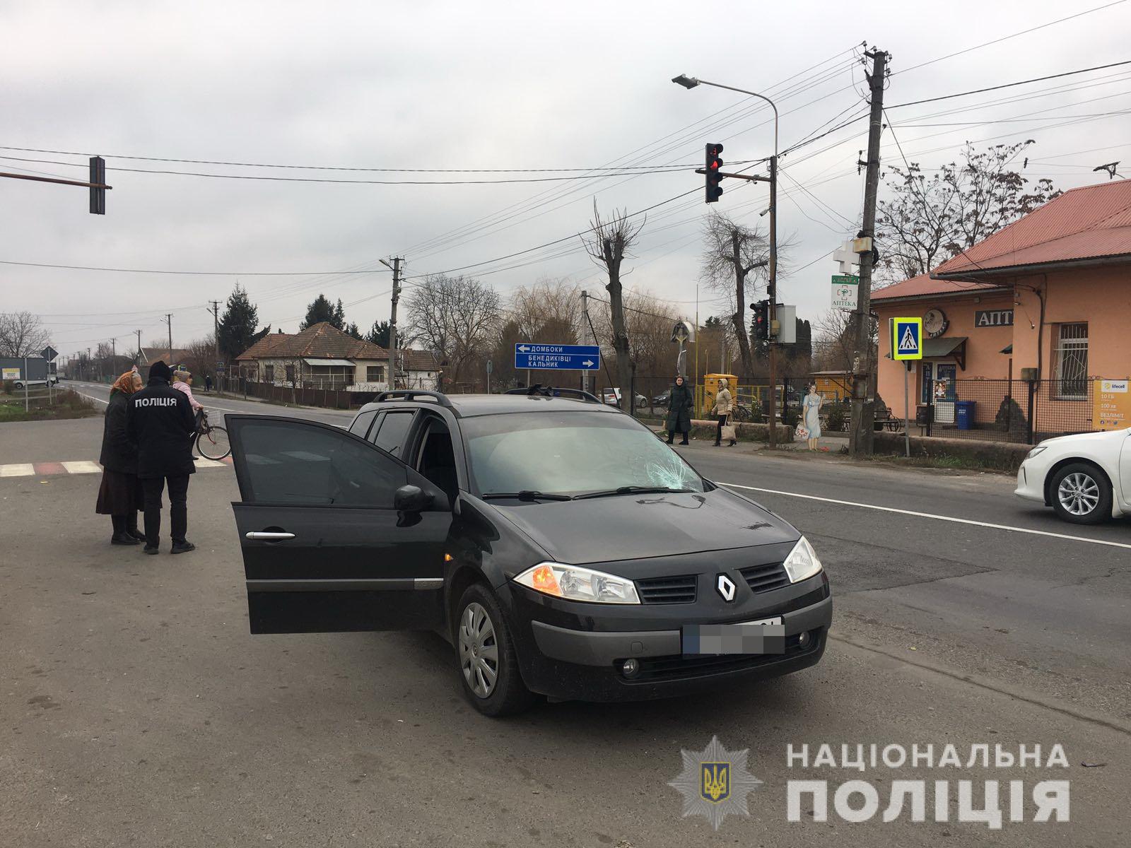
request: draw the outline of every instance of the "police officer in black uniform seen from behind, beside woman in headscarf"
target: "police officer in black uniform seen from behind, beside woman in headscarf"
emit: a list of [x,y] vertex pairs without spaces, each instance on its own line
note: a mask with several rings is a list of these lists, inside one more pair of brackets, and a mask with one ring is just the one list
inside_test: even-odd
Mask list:
[[196,419],[189,398],[170,386],[172,371],[159,360],[149,367],[149,382],[130,397],[129,432],[138,445],[138,477],[145,503],[145,553],[156,554],[161,542],[161,493],[169,483],[172,553],[196,545],[184,538],[189,525],[189,475]]

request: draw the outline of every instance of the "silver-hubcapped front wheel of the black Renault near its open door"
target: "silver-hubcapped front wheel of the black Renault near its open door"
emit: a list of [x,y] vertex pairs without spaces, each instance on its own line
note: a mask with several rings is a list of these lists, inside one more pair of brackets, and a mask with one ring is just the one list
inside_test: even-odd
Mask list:
[[457,606],[456,651],[464,694],[485,716],[511,716],[534,703],[523,683],[510,629],[494,594],[467,587]]

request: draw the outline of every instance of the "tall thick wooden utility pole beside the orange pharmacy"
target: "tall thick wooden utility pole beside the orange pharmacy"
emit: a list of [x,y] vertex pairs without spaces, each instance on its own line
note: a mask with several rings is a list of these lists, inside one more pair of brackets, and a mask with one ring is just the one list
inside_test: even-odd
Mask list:
[[[866,250],[860,253],[860,289],[856,311],[852,314],[855,353],[852,378],[852,431],[848,452],[853,457],[870,456],[874,442],[872,425],[875,421],[875,355],[872,345],[872,252],[875,236],[875,194],[880,185],[880,133],[883,130],[883,83],[888,54],[882,50],[865,53],[872,60],[867,87],[872,94],[872,112],[867,127],[867,161],[864,179],[864,217],[860,239]],[[770,301],[772,303],[772,300]]]

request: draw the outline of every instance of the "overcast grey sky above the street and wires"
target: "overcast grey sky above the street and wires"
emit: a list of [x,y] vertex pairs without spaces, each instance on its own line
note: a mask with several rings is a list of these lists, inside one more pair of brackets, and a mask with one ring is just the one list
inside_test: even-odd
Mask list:
[[[85,189],[0,180],[0,259],[231,272],[0,265],[0,311],[42,314],[54,346],[71,354],[112,336],[119,351],[131,349],[135,329],[145,343],[164,338],[159,317],[166,311],[174,344],[201,337],[211,329],[207,301],[226,298],[238,278],[258,303],[260,320],[275,329],[295,331],[319,292],[342,297],[347,320],[368,328],[389,314],[383,269],[333,277],[250,272],[382,268],[377,260],[397,253],[407,258],[409,275],[487,262],[468,272],[482,274],[503,294],[541,276],[568,276],[596,289],[597,271],[577,239],[490,260],[577,233],[594,198],[604,210],[637,210],[690,191],[649,213],[625,283],[693,315],[709,207],[692,168],[706,141],[725,142],[727,162],[768,155],[772,124],[759,101],[703,86],[685,90],[670,81],[673,76],[769,93],[778,99],[785,148],[864,110],[855,61],[864,41],[891,53],[886,103],[898,104],[1131,59],[1131,3],[1123,2],[913,69],[1105,1],[715,2],[708,16],[706,3],[655,0],[0,0],[0,145],[79,154],[5,149],[3,156],[52,162],[3,158],[0,171],[86,179],[86,156],[101,154],[114,187],[102,217],[87,213]],[[990,105],[1004,98],[1015,102]],[[1113,159],[1125,159],[1122,171],[1131,174],[1131,118],[1105,114],[1129,107],[1131,66],[912,106],[892,111],[891,120],[908,157],[925,167],[953,158],[967,139],[1033,138],[1026,175],[1071,188],[1106,179],[1091,168]],[[1078,115],[1089,118],[1070,122]],[[910,126],[925,123],[935,126]],[[855,162],[866,130],[858,121],[782,162],[778,220],[782,234],[796,242],[792,265],[800,270],[782,278],[780,293],[803,318],[828,309],[835,266],[820,257],[854,234],[863,190]],[[899,162],[891,133],[882,155]],[[342,180],[578,172],[366,173],[120,156],[368,168],[685,163],[687,170],[544,183],[375,185],[115,168]],[[763,184],[724,188],[719,208],[751,225],[766,222],[759,217]],[[705,320],[718,306],[701,296]]]

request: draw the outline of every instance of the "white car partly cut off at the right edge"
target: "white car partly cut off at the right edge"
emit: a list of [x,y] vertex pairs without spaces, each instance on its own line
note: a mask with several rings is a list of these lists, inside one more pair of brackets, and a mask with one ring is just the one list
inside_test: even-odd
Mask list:
[[1131,430],[1046,439],[1021,462],[1013,494],[1079,525],[1131,514]]

